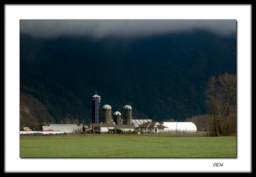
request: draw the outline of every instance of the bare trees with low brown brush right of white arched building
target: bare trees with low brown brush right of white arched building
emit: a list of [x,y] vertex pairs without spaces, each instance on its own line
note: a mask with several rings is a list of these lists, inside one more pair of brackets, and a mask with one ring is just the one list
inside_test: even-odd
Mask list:
[[235,135],[237,127],[237,79],[235,74],[211,76],[205,88],[207,115],[186,118],[198,131],[207,131],[209,136]]

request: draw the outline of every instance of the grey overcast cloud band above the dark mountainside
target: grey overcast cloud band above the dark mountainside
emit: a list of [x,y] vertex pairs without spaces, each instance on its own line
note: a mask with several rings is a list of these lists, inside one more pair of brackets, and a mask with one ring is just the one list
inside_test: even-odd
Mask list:
[[236,20],[20,20],[20,32],[45,38],[83,35],[133,37],[192,29],[227,36],[236,32]]

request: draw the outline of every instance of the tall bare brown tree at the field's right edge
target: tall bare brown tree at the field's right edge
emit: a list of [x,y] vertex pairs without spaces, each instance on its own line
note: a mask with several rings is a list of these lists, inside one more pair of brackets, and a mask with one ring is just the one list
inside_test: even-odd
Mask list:
[[217,127],[218,132],[223,134],[224,125],[228,134],[230,114],[236,113],[236,75],[225,73],[218,80],[212,76],[207,83],[205,96],[207,110],[213,117],[215,134]]

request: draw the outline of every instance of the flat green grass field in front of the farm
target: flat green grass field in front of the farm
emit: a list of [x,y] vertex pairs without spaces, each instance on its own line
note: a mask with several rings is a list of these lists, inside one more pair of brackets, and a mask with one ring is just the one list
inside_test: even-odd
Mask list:
[[20,136],[20,157],[236,157],[236,137]]

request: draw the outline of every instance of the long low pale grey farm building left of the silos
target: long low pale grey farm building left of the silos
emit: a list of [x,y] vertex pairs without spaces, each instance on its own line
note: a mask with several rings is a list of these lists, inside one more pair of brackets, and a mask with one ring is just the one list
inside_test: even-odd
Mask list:
[[81,133],[83,125],[77,126],[76,124],[50,124],[49,126],[42,126],[43,131],[60,131],[66,133]]

